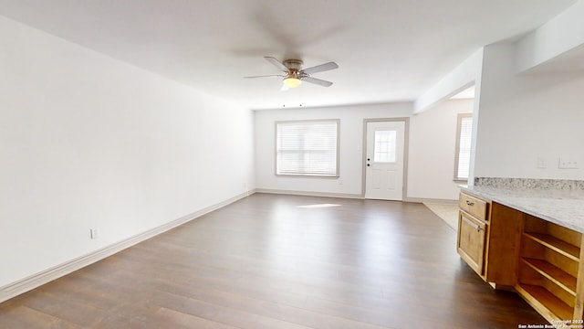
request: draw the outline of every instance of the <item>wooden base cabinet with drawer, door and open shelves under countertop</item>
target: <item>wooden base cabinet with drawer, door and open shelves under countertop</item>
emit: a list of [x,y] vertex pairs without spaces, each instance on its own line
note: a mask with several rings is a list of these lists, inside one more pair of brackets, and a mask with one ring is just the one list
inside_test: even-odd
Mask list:
[[584,324],[584,234],[462,192],[457,250],[495,289],[517,292],[551,324]]

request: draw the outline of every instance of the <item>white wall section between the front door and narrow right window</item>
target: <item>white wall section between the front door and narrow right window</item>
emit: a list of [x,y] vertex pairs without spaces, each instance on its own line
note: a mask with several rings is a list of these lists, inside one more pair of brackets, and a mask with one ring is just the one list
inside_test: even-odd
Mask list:
[[473,100],[443,101],[410,121],[408,196],[424,199],[458,198],[454,182],[456,130],[459,113],[472,113]]

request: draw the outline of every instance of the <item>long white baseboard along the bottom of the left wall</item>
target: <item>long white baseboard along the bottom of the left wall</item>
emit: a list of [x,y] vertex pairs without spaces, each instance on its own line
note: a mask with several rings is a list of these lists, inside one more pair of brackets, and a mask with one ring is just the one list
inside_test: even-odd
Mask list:
[[194,212],[193,214],[189,214],[182,218],[177,218],[168,222],[162,226],[157,228],[149,229],[141,234],[135,235],[128,239],[123,239],[120,242],[114,243],[110,246],[104,247],[102,249],[95,250],[85,256],[78,257],[73,260],[68,260],[62,264],[59,264],[53,268],[47,269],[45,271],[40,271],[36,274],[33,274],[25,279],[9,283],[3,287],[0,287],[0,302],[5,302],[11,298],[16,297],[19,294],[31,291],[47,282],[54,281],[60,277],[63,277],[73,271],[78,271],[94,262],[99,260],[103,260],[117,252],[120,252],[123,249],[130,248],[131,246],[140,243],[141,241],[151,239],[163,232],[171,228],[176,228],[184,223],[187,223],[195,218],[199,218],[211,211],[219,209],[221,207],[225,207],[235,201],[238,201],[245,196],[250,196],[255,193],[255,190],[251,190],[241,194],[239,196],[231,197],[223,202],[220,202],[211,207],[205,207],[199,211]]

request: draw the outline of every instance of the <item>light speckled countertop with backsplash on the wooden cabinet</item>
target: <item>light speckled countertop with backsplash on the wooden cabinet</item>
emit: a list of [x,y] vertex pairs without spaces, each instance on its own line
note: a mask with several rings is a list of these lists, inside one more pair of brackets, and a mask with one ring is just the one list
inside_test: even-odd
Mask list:
[[584,181],[475,178],[463,190],[584,233]]

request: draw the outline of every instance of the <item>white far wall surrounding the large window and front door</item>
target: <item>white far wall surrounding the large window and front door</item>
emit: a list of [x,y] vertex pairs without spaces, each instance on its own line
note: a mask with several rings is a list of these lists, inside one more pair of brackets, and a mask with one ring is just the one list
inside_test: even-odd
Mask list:
[[[407,197],[456,199],[458,190],[452,180],[456,113],[471,112],[472,102],[454,104],[415,116],[412,116],[412,103],[255,111],[256,186],[259,190],[276,192],[361,196],[363,120],[407,117],[411,139]],[[339,178],[276,176],[275,122],[311,119],[340,119]],[[436,153],[450,155],[437,157]],[[433,164],[432,170],[429,164]]]

